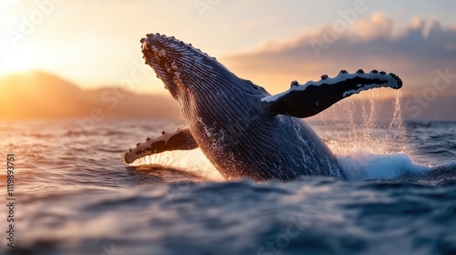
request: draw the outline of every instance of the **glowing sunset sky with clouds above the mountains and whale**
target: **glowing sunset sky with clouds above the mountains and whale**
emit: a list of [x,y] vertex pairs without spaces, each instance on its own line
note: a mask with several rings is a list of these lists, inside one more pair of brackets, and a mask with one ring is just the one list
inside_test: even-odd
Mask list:
[[[137,72],[133,91],[166,93],[140,53],[140,38],[159,32],[271,93],[378,68],[401,76],[411,95],[437,70],[456,74],[454,10],[454,1],[2,0],[0,75],[41,69],[92,88]],[[456,94],[451,79],[445,95]]]

